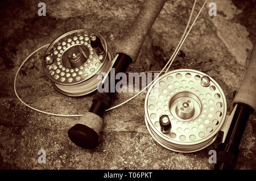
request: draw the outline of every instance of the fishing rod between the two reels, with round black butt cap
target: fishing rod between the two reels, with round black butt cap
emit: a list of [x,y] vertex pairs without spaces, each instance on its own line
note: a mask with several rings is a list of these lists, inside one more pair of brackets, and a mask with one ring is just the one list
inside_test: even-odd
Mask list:
[[[162,10],[166,0],[145,0],[133,27],[123,38],[117,48],[117,55],[113,60],[112,68],[114,74],[108,73],[108,78],[104,81],[104,86],[108,86],[109,91],[97,91],[93,98],[92,106],[88,112],[85,112],[80,121],[68,131],[68,136],[76,145],[81,148],[94,148],[98,144],[98,135],[102,128],[102,113],[110,106],[114,92],[110,90],[110,84],[113,84],[115,75],[119,72],[125,72],[131,62],[134,62],[141,50],[144,39],[146,38],[156,17]],[[107,83],[106,83],[107,82]],[[110,83],[111,82],[111,83]]]

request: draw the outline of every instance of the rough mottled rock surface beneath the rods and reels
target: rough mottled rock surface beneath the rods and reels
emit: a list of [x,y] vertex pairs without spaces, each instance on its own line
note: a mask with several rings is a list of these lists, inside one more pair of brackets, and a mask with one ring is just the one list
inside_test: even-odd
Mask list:
[[[175,153],[162,148],[144,123],[144,97],[104,115],[97,148],[81,149],[68,138],[68,129],[79,117],[44,115],[25,107],[15,97],[13,82],[21,62],[35,49],[65,32],[93,28],[108,41],[114,54],[118,40],[129,31],[143,1],[44,0],[46,16],[38,16],[40,1],[0,2],[0,169],[213,169],[208,151],[218,141],[195,153]],[[224,90],[232,106],[256,37],[255,0],[212,0],[217,16],[206,6],[181,48],[171,70],[203,71]],[[182,36],[193,1],[167,1],[144,41],[137,61],[127,71],[160,70]],[[199,0],[197,12],[203,5]],[[44,49],[45,50],[45,49]],[[53,89],[42,70],[44,50],[24,66],[17,82],[18,94],[31,106],[52,113],[82,114],[93,95],[70,98]],[[114,104],[134,93],[117,95]],[[240,145],[236,169],[256,169],[256,116],[251,115]],[[38,151],[46,151],[46,164]]]

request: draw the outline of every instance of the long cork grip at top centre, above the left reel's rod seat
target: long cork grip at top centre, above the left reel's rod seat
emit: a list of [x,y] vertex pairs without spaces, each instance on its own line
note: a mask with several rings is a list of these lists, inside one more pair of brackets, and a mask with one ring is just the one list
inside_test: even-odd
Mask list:
[[137,60],[144,39],[165,2],[166,0],[144,0],[142,9],[139,11],[133,27],[131,27],[129,33],[118,44],[117,53],[127,54],[133,62]]

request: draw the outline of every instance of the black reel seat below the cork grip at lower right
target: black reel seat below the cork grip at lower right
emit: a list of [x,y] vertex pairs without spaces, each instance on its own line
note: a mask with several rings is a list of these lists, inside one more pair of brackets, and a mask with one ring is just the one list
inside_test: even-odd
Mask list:
[[233,170],[236,166],[239,145],[252,111],[247,104],[237,104],[225,142],[218,148],[214,170]]

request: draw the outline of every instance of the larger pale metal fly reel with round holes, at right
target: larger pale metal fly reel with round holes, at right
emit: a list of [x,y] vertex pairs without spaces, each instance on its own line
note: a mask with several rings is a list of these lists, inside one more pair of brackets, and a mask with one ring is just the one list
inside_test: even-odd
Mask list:
[[148,89],[144,103],[151,136],[165,148],[181,153],[212,144],[225,121],[226,109],[218,83],[191,69],[159,77]]

